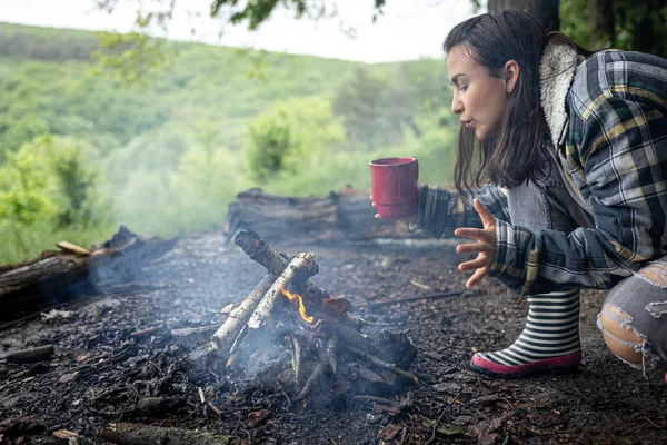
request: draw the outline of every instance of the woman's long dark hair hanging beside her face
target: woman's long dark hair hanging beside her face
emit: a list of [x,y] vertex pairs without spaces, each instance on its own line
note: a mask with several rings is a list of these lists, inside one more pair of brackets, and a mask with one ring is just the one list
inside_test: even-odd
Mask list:
[[561,32],[547,33],[535,17],[511,10],[474,17],[447,36],[445,53],[457,44],[468,44],[469,56],[488,68],[490,76],[501,77],[508,60],[516,60],[520,67],[517,83],[508,93],[499,135],[482,141],[474,129],[459,129],[455,166],[459,192],[487,181],[511,188],[547,174],[542,167],[544,141],[549,128],[540,106],[539,61],[549,39],[590,55]]

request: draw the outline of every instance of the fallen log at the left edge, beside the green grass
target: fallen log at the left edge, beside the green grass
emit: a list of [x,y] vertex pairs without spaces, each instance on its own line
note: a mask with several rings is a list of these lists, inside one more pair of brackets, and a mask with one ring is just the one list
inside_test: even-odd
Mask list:
[[131,283],[141,267],[173,247],[175,239],[143,238],[125,226],[91,249],[62,241],[61,250],[0,266],[0,322],[39,313],[62,301],[103,291],[106,286]]

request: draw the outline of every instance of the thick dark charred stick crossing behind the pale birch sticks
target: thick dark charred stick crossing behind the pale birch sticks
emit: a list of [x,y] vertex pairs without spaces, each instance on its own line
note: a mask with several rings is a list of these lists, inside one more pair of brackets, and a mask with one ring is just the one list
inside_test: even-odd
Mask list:
[[[280,275],[289,264],[289,260],[287,258],[281,256],[271,246],[262,241],[259,238],[259,235],[257,235],[252,230],[239,231],[236,235],[233,241],[241,249],[243,249],[243,251],[250,257],[250,259],[257,261],[273,275]],[[331,298],[328,291],[312,283],[311,279],[308,279],[303,285],[303,296],[307,297],[308,303],[318,306],[322,305],[325,298]],[[361,318],[357,318],[352,314],[347,312],[340,315],[339,322],[347,325],[351,325],[357,330],[361,329],[365,323]]]

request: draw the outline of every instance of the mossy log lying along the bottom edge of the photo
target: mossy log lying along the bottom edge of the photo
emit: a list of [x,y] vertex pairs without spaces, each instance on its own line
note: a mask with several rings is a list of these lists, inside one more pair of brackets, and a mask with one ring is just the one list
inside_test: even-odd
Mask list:
[[162,426],[118,423],[98,429],[97,436],[119,445],[240,445],[233,436]]

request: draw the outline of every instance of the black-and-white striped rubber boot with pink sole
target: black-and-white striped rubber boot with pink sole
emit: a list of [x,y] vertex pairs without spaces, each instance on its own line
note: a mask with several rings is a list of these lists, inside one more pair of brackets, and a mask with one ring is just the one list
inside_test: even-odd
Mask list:
[[531,295],[528,306],[528,320],[519,338],[506,349],[475,354],[472,369],[516,378],[579,365],[579,290]]

